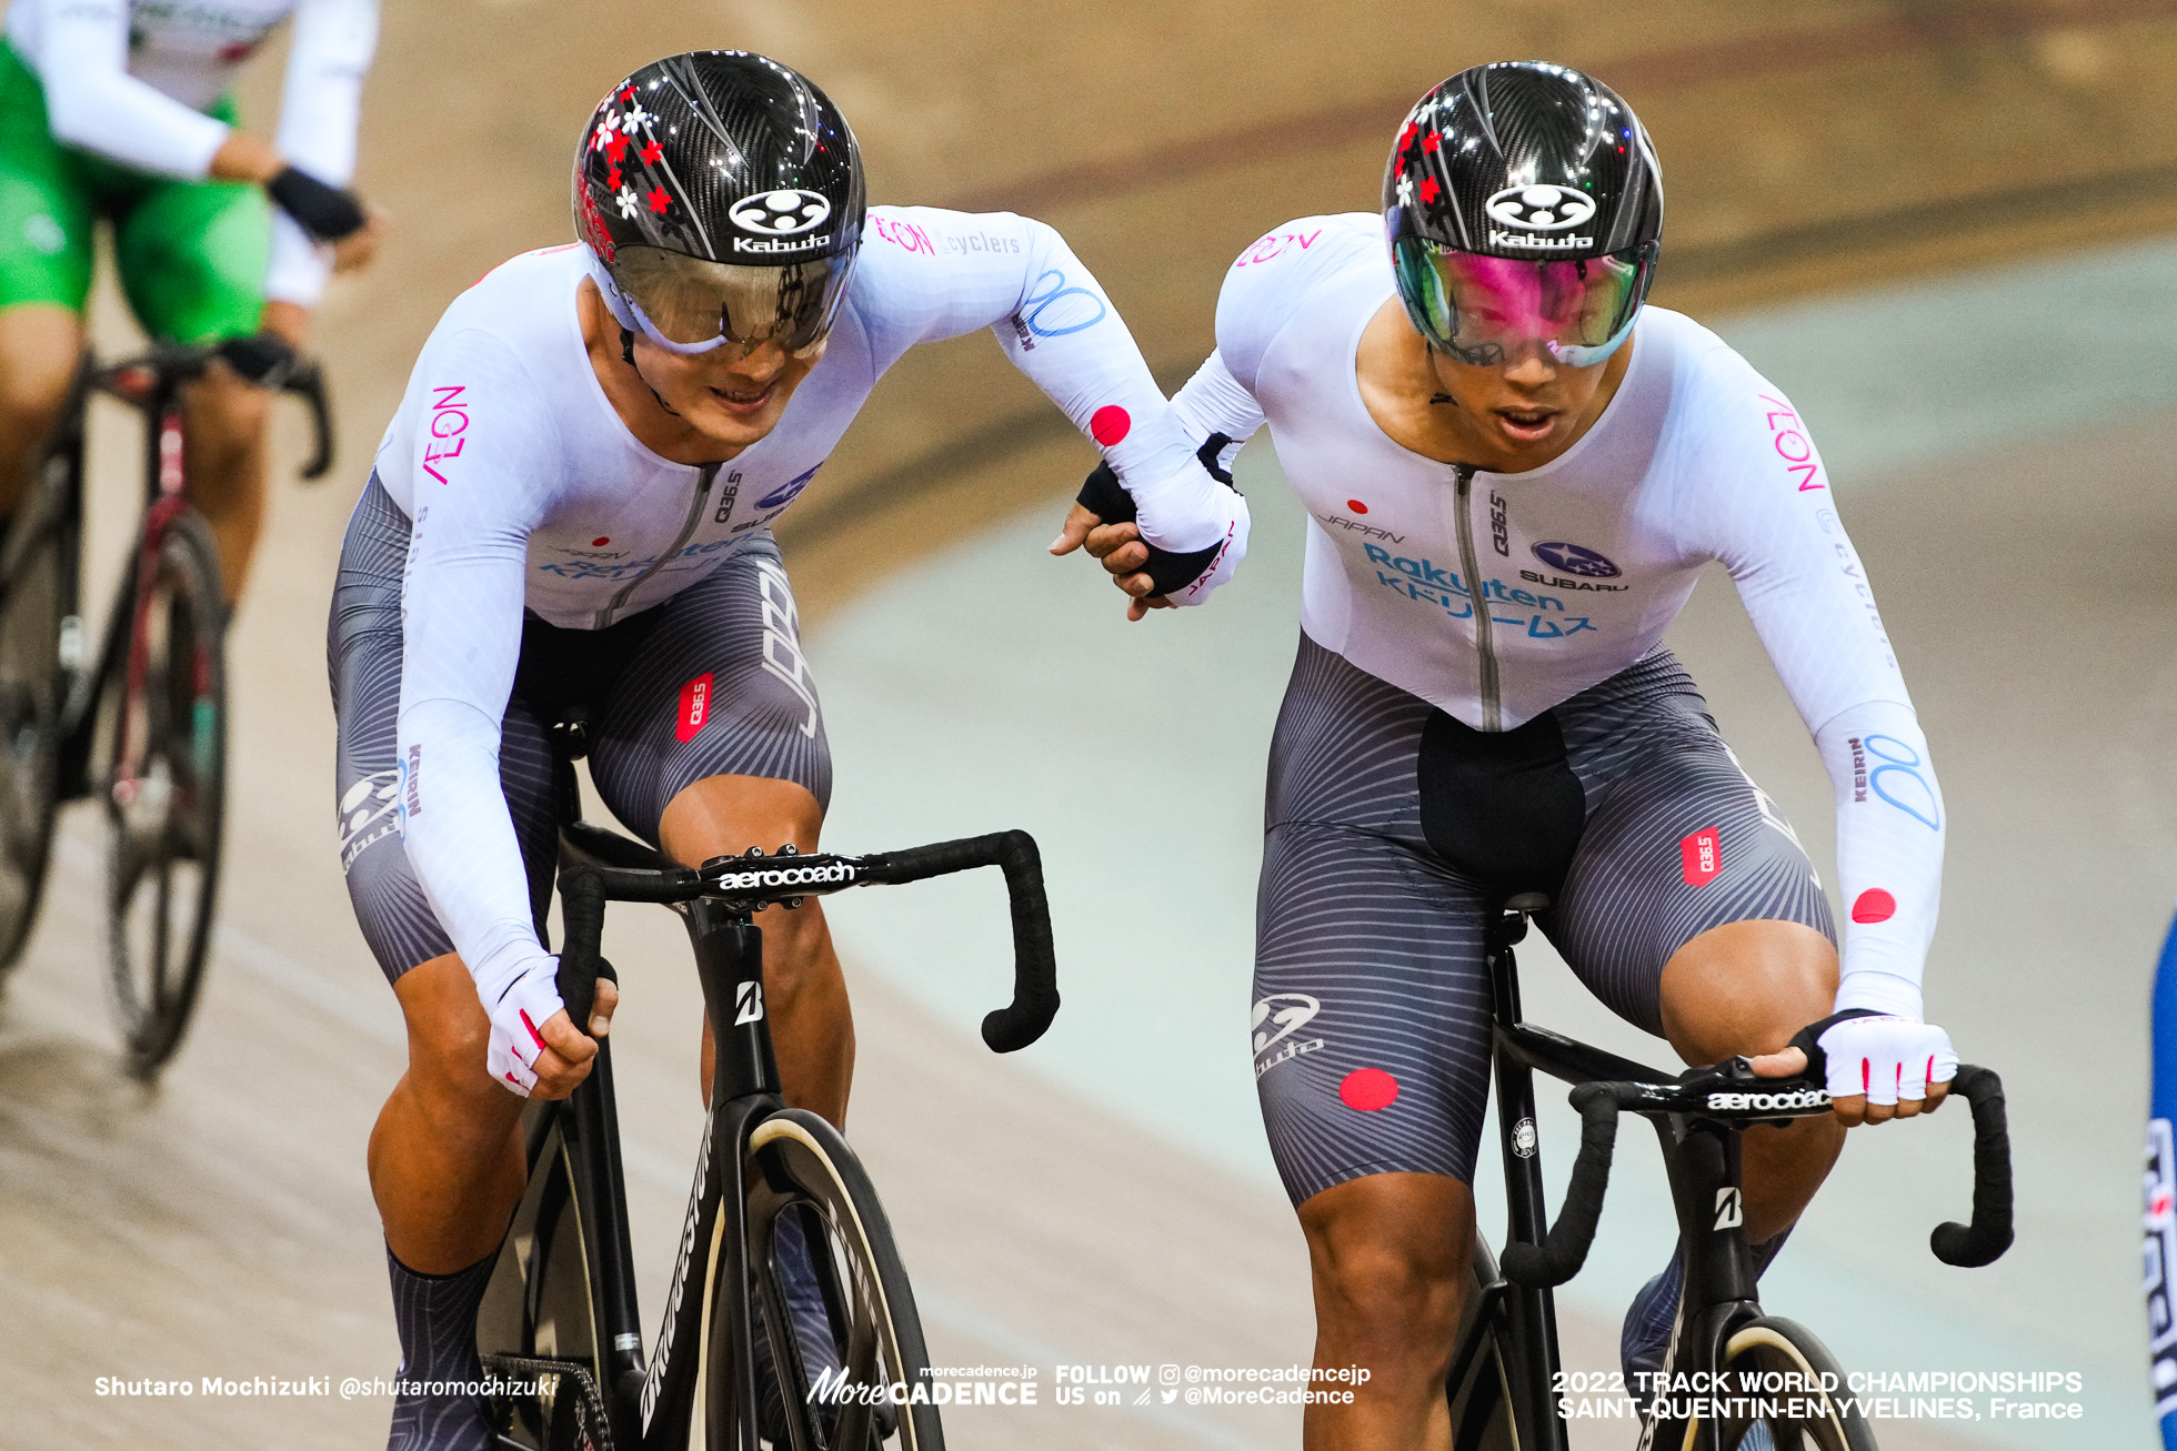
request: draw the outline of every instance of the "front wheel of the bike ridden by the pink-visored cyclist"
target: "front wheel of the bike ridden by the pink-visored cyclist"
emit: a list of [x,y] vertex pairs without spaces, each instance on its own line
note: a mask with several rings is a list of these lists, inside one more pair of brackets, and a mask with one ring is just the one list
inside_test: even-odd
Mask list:
[[[1718,1447],[1877,1451],[1837,1357],[1805,1325],[1779,1316],[1748,1320],[1724,1340],[1722,1360],[1731,1390],[1718,1397],[1718,1410],[1729,1412],[1715,1416]],[[1709,1444],[1705,1431],[1694,1418],[1685,1444]]]

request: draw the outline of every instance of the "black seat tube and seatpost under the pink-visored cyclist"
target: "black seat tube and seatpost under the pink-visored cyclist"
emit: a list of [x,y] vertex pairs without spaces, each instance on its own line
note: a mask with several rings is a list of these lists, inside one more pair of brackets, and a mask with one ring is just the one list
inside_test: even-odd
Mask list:
[[[1550,1210],[1541,1192],[1541,1140],[1535,1133],[1535,1075],[1504,1038],[1520,1022],[1520,977],[1511,946],[1489,955],[1491,1014],[1496,1018],[1498,1136],[1504,1151],[1506,1242],[1541,1244],[1550,1233]],[[1557,1303],[1548,1290],[1504,1288],[1511,1318],[1513,1416],[1520,1444],[1565,1451],[1565,1423],[1557,1414]]]

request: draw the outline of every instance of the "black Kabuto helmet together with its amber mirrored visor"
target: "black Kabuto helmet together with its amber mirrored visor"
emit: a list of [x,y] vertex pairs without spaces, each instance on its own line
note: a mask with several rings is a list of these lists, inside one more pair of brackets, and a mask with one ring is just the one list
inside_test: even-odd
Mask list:
[[679,355],[823,344],[862,246],[862,157],[838,107],[747,50],[653,61],[575,148],[575,233],[620,326]]

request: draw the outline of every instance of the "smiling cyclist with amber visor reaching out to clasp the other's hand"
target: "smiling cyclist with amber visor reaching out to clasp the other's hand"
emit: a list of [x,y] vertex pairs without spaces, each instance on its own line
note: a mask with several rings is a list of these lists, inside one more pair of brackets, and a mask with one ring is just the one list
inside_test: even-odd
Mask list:
[[[581,1027],[601,1033],[616,1001],[601,985],[570,1025],[538,933],[544,729],[579,711],[603,803],[681,861],[816,848],[829,755],[768,524],[884,370],[993,328],[1136,487],[1143,531],[1204,555],[1182,594],[1245,548],[1245,507],[1058,233],[864,220],[853,135],[784,65],[694,52],[636,72],[581,137],[575,209],[577,246],[501,265],[425,344],[333,596],[342,864],[411,1044],[370,1170],[416,1384],[477,1377],[520,1096],[570,1092],[596,1051]],[[760,925],[786,1096],[838,1123],[853,1031],[823,911]],[[396,1451],[490,1444],[475,1394],[396,1401]]]

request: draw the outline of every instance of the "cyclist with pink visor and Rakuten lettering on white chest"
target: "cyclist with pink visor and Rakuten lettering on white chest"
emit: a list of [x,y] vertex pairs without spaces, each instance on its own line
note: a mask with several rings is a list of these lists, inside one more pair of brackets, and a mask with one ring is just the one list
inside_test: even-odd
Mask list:
[[[1922,1022],[1944,842],[1927,740],[1798,411],[1707,328],[1641,311],[1661,211],[1607,87],[1463,72],[1409,115],[1380,218],[1304,218],[1239,257],[1217,352],[1176,398],[1219,450],[1267,422],[1311,516],[1256,1086],[1311,1242],[1317,1364],[1376,1373],[1354,1405],[1308,1407],[1311,1447],[1450,1444],[1483,931],[1506,896],[1548,894],[1539,925],[1581,979],[1687,1062],[1827,1077],[1837,1116],[1746,1136],[1763,1264],[1844,1125],[1940,1103],[1957,1066]],[[1078,505],[1062,540],[1139,618],[1154,559],[1099,518]],[[1711,559],[1835,785],[1842,972],[1798,840],[1661,644]],[[1674,1262],[1637,1299],[1631,1371],[1663,1364],[1678,1288]]]

